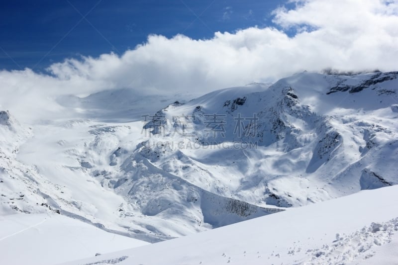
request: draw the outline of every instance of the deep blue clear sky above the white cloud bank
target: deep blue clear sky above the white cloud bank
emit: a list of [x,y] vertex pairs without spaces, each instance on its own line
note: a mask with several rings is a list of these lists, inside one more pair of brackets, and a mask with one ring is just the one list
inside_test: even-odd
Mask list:
[[122,54],[149,34],[194,39],[272,24],[282,0],[13,0],[0,6],[0,69],[42,71],[80,55]]

